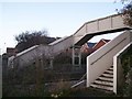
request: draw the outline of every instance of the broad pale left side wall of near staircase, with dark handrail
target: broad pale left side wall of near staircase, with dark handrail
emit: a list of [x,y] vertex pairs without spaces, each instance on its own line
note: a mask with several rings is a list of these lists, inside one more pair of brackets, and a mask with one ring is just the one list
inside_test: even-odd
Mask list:
[[87,57],[87,87],[113,65],[113,56],[130,43],[130,34],[125,31]]

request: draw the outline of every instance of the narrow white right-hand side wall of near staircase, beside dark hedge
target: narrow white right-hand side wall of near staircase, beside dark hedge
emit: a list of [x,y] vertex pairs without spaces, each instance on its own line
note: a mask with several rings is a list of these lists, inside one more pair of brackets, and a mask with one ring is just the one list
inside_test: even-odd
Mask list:
[[[131,36],[130,36],[131,37]],[[131,43],[129,43],[123,50],[121,50],[119,53],[117,53],[113,57],[113,92],[117,94],[117,81],[118,81],[118,70],[121,73],[121,67],[119,65],[118,67],[118,57],[121,53],[123,53],[130,45],[132,45],[132,40],[130,40]],[[119,69],[118,69],[119,68]]]

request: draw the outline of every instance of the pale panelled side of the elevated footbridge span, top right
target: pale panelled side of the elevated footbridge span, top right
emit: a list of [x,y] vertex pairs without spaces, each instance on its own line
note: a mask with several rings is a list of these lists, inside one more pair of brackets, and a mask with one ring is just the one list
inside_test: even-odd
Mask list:
[[99,33],[102,31],[116,30],[121,28],[129,28],[129,26],[127,26],[123,23],[123,19],[121,14],[113,14],[106,18],[100,18],[97,20],[86,22],[80,29],[77,30],[74,36],[78,36],[78,35],[81,36],[85,34]]

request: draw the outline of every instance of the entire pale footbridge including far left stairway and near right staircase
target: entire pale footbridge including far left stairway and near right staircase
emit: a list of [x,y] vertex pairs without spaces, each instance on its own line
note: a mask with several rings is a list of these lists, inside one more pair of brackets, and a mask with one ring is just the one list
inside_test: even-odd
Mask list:
[[[37,45],[26,50],[15,57],[9,57],[9,66],[14,58],[23,59],[21,64],[31,62],[34,56],[41,56],[43,53],[46,56],[54,56],[62,51],[73,48],[73,65],[75,57],[78,57],[78,65],[81,64],[81,53],[76,55],[75,51],[80,50],[80,46],[96,35],[122,32],[118,37],[110,41],[103,47],[99,48],[87,57],[87,87],[96,87],[110,90],[117,94],[117,65],[113,65],[113,57],[132,42],[131,28],[123,23],[121,14],[114,14],[90,22],[86,22],[73,35],[57,40],[47,46]],[[40,50],[40,51],[38,51]],[[114,61],[116,62],[116,61]],[[114,73],[114,74],[113,74]],[[114,80],[113,80],[114,79]],[[81,81],[85,82],[85,81]],[[79,82],[79,84],[81,84]],[[77,84],[77,85],[79,85]]]

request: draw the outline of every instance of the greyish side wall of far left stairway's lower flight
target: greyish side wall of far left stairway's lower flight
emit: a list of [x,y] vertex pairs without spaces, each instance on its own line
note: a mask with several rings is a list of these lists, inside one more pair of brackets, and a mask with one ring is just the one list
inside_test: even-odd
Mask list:
[[35,45],[31,48],[28,48],[15,56],[9,57],[8,66],[14,66],[14,62],[19,63],[19,67],[25,66],[28,64],[33,63],[36,57],[41,57],[42,55],[48,56],[51,54],[50,47],[46,45]]

